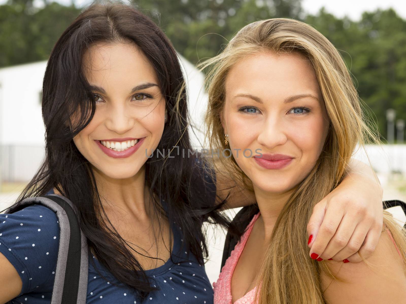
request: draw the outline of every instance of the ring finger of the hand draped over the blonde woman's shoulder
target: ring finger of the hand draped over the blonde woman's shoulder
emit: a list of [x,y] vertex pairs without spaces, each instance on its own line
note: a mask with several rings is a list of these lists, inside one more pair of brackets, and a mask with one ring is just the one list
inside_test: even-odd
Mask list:
[[348,259],[349,257],[356,254],[358,250],[360,250],[370,228],[371,224],[367,221],[363,221],[362,223],[356,225],[356,227],[354,227],[352,235],[350,235],[350,237],[348,238],[346,246],[344,246],[337,253],[330,255],[330,257],[335,261],[343,261],[344,259]]

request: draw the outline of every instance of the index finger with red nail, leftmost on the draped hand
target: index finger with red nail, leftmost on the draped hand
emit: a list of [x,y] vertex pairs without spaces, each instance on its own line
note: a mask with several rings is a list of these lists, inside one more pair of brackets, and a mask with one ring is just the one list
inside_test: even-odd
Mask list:
[[329,204],[328,208],[326,209],[326,214],[324,215],[324,219],[322,225],[320,225],[320,229],[317,232],[317,238],[315,238],[311,248],[310,248],[310,257],[312,259],[320,259],[320,255],[326,249],[328,243],[330,242],[331,238],[337,231],[338,226],[341,223],[341,220],[344,216],[344,210],[342,206],[338,206],[339,204],[333,203]]

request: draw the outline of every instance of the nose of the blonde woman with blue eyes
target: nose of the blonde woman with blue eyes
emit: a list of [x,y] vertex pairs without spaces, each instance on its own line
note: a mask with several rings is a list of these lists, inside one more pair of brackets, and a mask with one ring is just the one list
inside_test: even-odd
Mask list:
[[283,122],[276,116],[268,116],[266,120],[264,120],[261,130],[257,141],[269,150],[276,146],[283,145],[287,141]]

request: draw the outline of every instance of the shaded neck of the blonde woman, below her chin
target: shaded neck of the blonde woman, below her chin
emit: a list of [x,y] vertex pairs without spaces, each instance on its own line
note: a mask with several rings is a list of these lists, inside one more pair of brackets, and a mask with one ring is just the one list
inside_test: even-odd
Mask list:
[[258,220],[260,220],[259,223],[263,225],[265,240],[270,240],[276,220],[293,191],[294,189],[283,193],[271,193],[263,191],[254,185],[255,198],[257,199],[259,211],[261,212],[261,216]]

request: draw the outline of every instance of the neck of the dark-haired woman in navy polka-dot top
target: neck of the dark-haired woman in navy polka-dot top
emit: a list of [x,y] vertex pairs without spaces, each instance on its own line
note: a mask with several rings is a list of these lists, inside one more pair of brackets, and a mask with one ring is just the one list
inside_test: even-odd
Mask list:
[[145,166],[135,176],[123,179],[110,178],[94,168],[93,173],[107,214],[131,216],[141,221],[150,218],[153,201],[145,184]]

